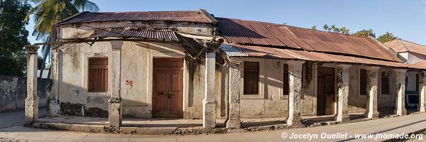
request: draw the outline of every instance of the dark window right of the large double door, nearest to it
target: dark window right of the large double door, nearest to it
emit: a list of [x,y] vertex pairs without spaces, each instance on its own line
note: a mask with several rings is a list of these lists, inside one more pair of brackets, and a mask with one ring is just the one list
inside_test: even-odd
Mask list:
[[259,62],[244,62],[244,94],[258,94]]

